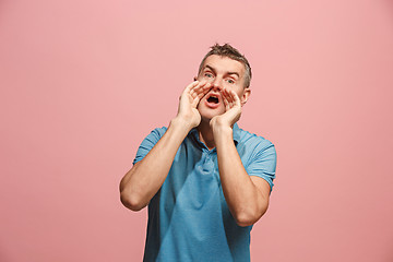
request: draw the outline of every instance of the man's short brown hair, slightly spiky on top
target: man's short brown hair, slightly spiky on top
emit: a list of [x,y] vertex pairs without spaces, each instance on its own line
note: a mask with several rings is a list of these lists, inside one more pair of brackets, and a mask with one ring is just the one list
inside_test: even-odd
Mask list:
[[202,59],[202,62],[198,70],[198,74],[201,73],[201,71],[203,69],[203,64],[207,57],[210,57],[212,55],[217,55],[221,57],[228,57],[230,59],[241,62],[245,66],[245,69],[246,69],[245,87],[250,86],[251,76],[252,76],[251,67],[250,67],[250,63],[248,62],[247,58],[243,55],[241,55],[235,47],[230,46],[229,44],[225,44],[223,46],[215,44],[214,46],[211,47],[211,49],[212,50],[210,50],[206,53],[206,56],[204,56],[204,58]]

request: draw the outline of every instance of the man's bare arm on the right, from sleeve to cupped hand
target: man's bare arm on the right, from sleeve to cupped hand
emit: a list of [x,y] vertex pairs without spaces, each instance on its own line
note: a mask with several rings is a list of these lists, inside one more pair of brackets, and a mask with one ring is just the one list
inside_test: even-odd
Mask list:
[[233,126],[241,115],[240,99],[234,91],[222,92],[226,112],[212,119],[214,142],[223,192],[229,211],[239,226],[254,224],[269,206],[270,184],[249,176],[233,140]]

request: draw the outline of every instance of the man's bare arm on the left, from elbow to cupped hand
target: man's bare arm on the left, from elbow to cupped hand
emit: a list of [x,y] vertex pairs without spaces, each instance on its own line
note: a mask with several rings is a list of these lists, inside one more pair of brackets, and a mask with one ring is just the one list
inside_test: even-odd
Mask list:
[[176,152],[188,132],[201,121],[199,100],[210,88],[209,83],[193,82],[180,96],[179,110],[168,130],[148,154],[120,182],[120,199],[132,211],[145,207],[164,183]]

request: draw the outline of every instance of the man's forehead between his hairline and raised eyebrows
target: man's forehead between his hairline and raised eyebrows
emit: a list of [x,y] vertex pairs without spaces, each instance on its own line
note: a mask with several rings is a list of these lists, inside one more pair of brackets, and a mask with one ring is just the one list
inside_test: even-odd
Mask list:
[[228,57],[221,57],[217,55],[212,55],[206,58],[206,60],[203,63],[202,69],[205,69],[206,66],[213,68],[217,71],[217,73],[228,73],[228,72],[237,72],[240,76],[243,76],[245,74],[245,66],[231,58]]

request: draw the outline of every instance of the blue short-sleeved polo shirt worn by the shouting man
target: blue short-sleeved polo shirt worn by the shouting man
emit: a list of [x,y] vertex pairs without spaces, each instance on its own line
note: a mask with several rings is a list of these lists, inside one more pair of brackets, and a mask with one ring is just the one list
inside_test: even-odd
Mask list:
[[[153,148],[167,128],[153,130],[133,164]],[[274,145],[234,126],[234,143],[246,171],[275,178]],[[148,204],[143,261],[250,261],[250,231],[231,216],[224,198],[216,150],[209,150],[192,129],[179,146],[162,188]]]

